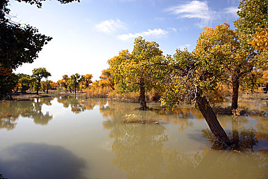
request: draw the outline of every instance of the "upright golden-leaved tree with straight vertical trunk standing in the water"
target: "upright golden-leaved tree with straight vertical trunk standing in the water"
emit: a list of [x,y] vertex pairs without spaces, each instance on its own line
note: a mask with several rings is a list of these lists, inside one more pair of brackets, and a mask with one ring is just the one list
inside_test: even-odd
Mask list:
[[150,64],[160,63],[162,51],[155,41],[148,42],[138,37],[134,42],[132,53],[128,50],[119,52],[108,60],[109,71],[116,83],[117,91],[122,93],[140,91],[140,109],[147,109],[145,90],[158,85],[156,78],[158,69]]

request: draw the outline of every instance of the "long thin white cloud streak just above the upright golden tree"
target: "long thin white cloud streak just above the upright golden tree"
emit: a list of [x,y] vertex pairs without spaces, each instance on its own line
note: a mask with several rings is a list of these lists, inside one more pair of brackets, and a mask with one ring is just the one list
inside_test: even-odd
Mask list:
[[154,29],[154,30],[148,29],[147,31],[143,31],[139,33],[134,33],[134,34],[128,33],[128,34],[118,35],[117,37],[120,40],[128,40],[130,38],[135,38],[138,36],[160,36],[160,35],[165,35],[167,33],[168,32],[163,29]]

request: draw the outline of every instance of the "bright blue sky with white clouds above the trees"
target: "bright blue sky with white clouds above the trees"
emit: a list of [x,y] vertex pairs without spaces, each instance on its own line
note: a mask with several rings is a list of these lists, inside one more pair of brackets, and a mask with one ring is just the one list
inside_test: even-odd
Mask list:
[[31,75],[42,67],[55,82],[75,73],[92,74],[98,80],[108,59],[121,50],[132,52],[135,37],[156,41],[164,55],[173,55],[176,49],[192,51],[204,27],[226,22],[234,29],[238,5],[237,0],[81,0],[66,5],[52,0],[38,9],[11,0],[14,21],[53,37],[33,63],[15,73]]

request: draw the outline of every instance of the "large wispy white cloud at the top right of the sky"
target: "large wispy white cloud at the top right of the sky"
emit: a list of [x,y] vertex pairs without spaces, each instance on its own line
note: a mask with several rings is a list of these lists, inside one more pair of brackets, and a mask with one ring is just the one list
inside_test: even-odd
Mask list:
[[174,15],[178,15],[177,18],[198,18],[201,19],[199,26],[208,25],[214,19],[215,11],[210,10],[207,2],[192,1],[187,4],[169,7],[166,11],[171,12]]

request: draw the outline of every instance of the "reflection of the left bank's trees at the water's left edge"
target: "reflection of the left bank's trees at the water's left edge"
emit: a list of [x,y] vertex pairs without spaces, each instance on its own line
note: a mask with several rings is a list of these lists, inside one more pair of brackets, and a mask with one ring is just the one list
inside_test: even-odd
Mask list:
[[19,116],[30,117],[36,124],[46,125],[53,116],[48,112],[42,113],[42,105],[51,105],[54,98],[39,98],[37,101],[5,101],[0,103],[0,128],[12,130]]

